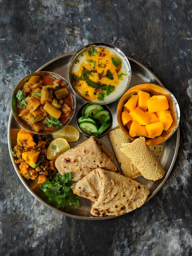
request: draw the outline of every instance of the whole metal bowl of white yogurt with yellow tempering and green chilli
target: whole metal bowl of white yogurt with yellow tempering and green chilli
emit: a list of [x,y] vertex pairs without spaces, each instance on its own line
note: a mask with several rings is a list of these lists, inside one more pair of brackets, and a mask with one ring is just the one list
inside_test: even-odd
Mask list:
[[71,60],[69,81],[81,99],[93,104],[109,104],[127,91],[131,81],[130,63],[125,54],[111,44],[89,44]]

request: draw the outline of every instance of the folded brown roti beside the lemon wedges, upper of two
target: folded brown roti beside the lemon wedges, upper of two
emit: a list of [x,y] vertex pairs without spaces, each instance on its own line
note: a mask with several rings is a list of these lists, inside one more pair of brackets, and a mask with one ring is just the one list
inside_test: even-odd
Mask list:
[[95,136],[91,136],[76,147],[58,156],[55,166],[61,175],[65,172],[71,172],[72,179],[78,181],[98,167],[117,172],[113,160],[114,156],[101,141]]

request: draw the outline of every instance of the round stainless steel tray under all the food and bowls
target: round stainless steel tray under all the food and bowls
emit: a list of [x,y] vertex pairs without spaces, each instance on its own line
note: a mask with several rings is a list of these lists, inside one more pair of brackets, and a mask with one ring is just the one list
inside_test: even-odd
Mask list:
[[[67,81],[69,81],[68,68],[69,68],[70,61],[75,53],[76,52],[69,52],[67,54],[61,55],[60,57],[47,62],[42,67],[38,68],[36,71],[51,71],[51,72],[54,72],[54,73],[64,77]],[[131,69],[132,69],[132,77],[131,77],[131,83],[130,83],[129,88],[134,85],[142,84],[142,83],[154,83],[154,84],[159,84],[161,86],[164,86],[162,84],[162,82],[148,68],[143,66],[138,61],[133,60],[132,58],[128,57],[128,60],[130,62]],[[79,108],[81,108],[81,106],[83,104],[85,104],[85,101],[81,100],[76,95],[76,112],[79,110]],[[118,125],[117,119],[116,119],[117,105],[118,105],[118,100],[107,105],[113,114],[112,129]],[[76,126],[76,114],[72,118],[70,124]],[[9,146],[9,148],[13,148],[13,146],[14,146],[13,140],[15,138],[13,138],[12,132],[11,132],[12,129],[14,129],[14,128],[21,128],[21,127],[17,124],[17,122],[11,112],[10,117],[9,117],[9,124],[8,124],[8,146]],[[172,135],[172,137],[169,140],[162,143],[162,145],[164,146],[164,149],[163,149],[163,153],[162,153],[162,156],[160,159],[160,163],[162,164],[162,166],[165,169],[165,175],[161,180],[152,182],[150,180],[144,179],[142,176],[136,179],[137,181],[147,185],[150,190],[150,194],[145,202],[147,202],[149,199],[151,199],[153,196],[155,196],[155,194],[164,185],[165,181],[169,177],[169,175],[172,171],[172,168],[174,166],[176,157],[177,157],[178,148],[179,148],[179,138],[180,138],[180,133],[179,133],[179,127],[178,127],[178,129]],[[78,141],[69,143],[69,144],[71,147],[74,147],[86,139],[87,138],[84,135],[80,134],[80,138]],[[114,153],[114,150],[113,150],[113,147],[111,145],[108,135],[103,136],[102,138],[100,138],[100,140],[109,149],[109,151],[111,153],[113,153],[115,156],[115,153]],[[15,171],[16,171],[17,175],[19,176],[23,185],[28,189],[28,191],[39,202],[46,205],[50,209],[52,209],[60,214],[63,214],[63,215],[69,216],[69,217],[73,217],[76,219],[83,219],[83,220],[106,220],[106,219],[111,219],[111,218],[116,217],[116,216],[105,216],[105,217],[92,216],[90,213],[90,210],[91,210],[91,206],[92,206],[93,202],[91,202],[83,197],[80,197],[80,202],[82,204],[81,208],[78,208],[77,206],[66,205],[65,208],[63,209],[63,211],[58,210],[55,207],[55,205],[52,204],[52,202],[50,202],[48,200],[48,197],[44,194],[44,192],[39,189],[39,186],[38,186],[36,180],[35,181],[26,180],[23,176],[21,176],[18,173],[18,165],[15,164],[14,157],[12,156],[11,153],[10,153],[10,156],[11,156],[12,164],[15,168]],[[116,166],[118,166],[118,168],[120,169],[116,158],[114,160],[114,164],[116,164]]]

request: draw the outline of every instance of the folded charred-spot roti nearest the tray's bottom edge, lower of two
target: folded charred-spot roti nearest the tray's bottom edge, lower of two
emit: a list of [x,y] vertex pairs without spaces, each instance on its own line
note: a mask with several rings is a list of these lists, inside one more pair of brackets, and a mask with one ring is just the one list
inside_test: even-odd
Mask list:
[[147,186],[117,172],[97,168],[72,185],[73,193],[92,200],[93,216],[121,215],[144,204]]

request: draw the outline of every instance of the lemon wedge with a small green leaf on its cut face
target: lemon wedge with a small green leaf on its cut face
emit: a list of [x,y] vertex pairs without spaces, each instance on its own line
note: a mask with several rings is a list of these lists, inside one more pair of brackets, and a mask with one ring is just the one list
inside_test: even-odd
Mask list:
[[63,152],[70,149],[70,146],[64,138],[57,138],[53,140],[47,148],[47,159],[54,160]]

